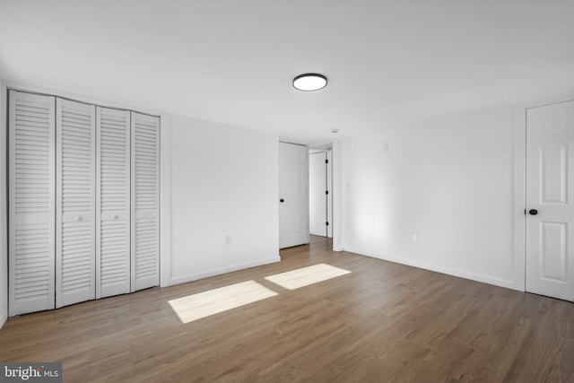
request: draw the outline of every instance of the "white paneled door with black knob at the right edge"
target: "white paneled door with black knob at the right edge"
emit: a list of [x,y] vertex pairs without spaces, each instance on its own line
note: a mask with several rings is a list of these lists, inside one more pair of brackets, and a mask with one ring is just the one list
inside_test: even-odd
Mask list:
[[527,110],[526,291],[574,301],[574,101]]

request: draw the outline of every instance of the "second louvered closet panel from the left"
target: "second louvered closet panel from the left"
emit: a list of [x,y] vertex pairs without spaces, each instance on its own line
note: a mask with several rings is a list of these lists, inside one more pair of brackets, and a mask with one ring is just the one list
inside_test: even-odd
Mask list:
[[57,99],[57,308],[96,296],[95,109]]

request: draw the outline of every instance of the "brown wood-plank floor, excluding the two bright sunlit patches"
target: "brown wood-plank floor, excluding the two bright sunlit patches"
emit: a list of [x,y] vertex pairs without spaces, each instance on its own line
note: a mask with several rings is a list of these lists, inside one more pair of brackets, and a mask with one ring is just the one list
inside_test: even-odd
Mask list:
[[[68,382],[574,381],[574,304],[329,248],[12,318],[0,361],[62,361]],[[265,280],[320,263],[351,273]],[[246,281],[277,294],[187,324],[168,303]]]

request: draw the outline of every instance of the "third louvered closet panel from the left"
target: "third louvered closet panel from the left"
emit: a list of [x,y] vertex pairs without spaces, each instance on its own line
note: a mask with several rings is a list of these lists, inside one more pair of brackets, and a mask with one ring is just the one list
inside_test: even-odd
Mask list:
[[98,108],[97,298],[130,292],[130,112]]

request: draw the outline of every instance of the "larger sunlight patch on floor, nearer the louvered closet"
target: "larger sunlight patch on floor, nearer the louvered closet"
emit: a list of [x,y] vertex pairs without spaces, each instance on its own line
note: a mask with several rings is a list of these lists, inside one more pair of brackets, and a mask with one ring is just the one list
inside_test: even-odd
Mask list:
[[208,292],[187,295],[187,297],[170,300],[169,303],[171,309],[178,314],[179,320],[185,324],[275,295],[277,295],[276,292],[267,289],[262,284],[247,281]]

